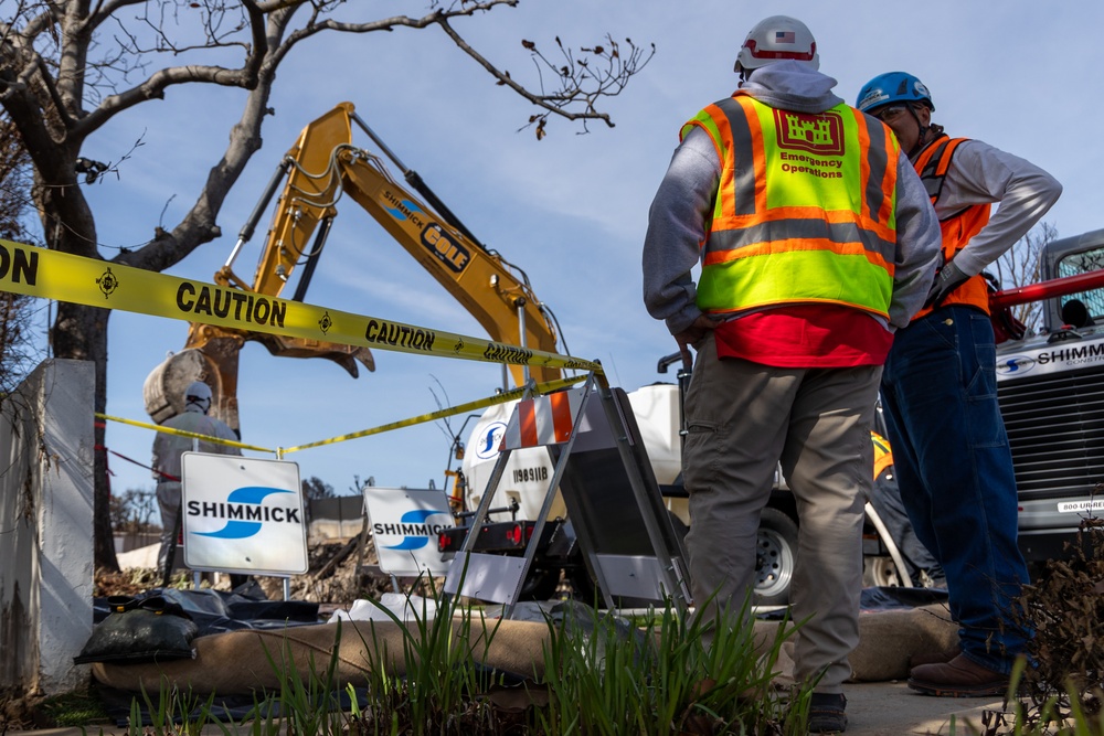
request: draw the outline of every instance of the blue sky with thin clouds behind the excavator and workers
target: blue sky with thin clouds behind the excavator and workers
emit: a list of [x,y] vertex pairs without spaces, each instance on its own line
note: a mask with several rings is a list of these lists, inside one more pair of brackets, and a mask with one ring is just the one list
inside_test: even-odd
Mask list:
[[[393,2],[388,12],[423,10],[421,1]],[[1044,218],[1061,236],[1104,227],[1096,212],[1104,154],[1084,135],[1101,111],[1096,70],[1104,64],[1090,31],[1104,28],[1102,3],[522,0],[455,23],[516,78],[534,78],[520,39],[546,52],[555,35],[573,47],[603,43],[606,33],[657,45],[622,96],[603,104],[615,128],[592,124],[581,136],[574,125],[552,120],[540,142],[532,131],[517,132],[532,108],[435,30],[317,39],[283,66],[264,147],[219,218],[223,237],[170,273],[210,281],[302,126],[350,100],[484,243],[528,271],[573,354],[601,360],[611,382],[629,391],[670,380],[656,363],[675,343],[640,301],[648,206],[680,125],[732,92],[732,63],[747,29],[775,13],[810,26],[821,71],[838,79],[837,93],[849,103],[878,73],[912,72],[931,88],[934,119],[948,132],[1022,156],[1063,183],[1062,199]],[[106,256],[146,242],[159,223],[176,224],[221,154],[241,100],[232,89],[171,89],[88,142],[84,154],[100,161],[130,151],[117,179],[87,188]],[[131,151],[139,138],[142,146]],[[355,142],[371,147],[365,137]],[[339,212],[308,301],[486,337],[354,203],[341,202]],[[236,264],[243,276],[253,273],[267,217]],[[183,346],[187,323],[116,312],[109,329],[108,414],[148,420],[142,382],[167,352]],[[495,365],[383,351],[375,360],[374,373],[353,380],[328,361],[276,359],[246,345],[243,440],[301,445],[434,410],[431,391],[457,404],[490,395],[501,383]],[[151,442],[148,430],[108,426],[108,447],[142,463]],[[288,459],[301,477],[317,476],[338,492],[348,491],[354,476],[380,486],[425,487],[432,479],[440,487],[448,447],[438,426],[424,425]],[[114,456],[109,465],[115,491],[152,488],[147,470]]]

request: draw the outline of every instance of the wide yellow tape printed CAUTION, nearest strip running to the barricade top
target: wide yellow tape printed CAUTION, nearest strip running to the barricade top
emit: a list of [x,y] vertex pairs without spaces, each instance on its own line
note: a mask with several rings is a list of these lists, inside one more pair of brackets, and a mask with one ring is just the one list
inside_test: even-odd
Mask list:
[[0,239],[0,290],[219,327],[486,363],[602,364]]

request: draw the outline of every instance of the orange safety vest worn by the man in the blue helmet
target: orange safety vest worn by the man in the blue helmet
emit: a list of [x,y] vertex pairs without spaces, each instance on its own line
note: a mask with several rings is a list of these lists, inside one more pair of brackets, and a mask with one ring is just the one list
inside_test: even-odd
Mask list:
[[[947,178],[947,170],[951,168],[955,149],[967,140],[969,139],[940,136],[921,152],[913,163],[916,173],[920,174],[920,180],[924,183],[924,189],[927,190],[927,195],[932,198],[932,204],[935,204],[940,195],[943,194],[943,182]],[[981,232],[981,228],[989,222],[990,209],[988,204],[975,204],[940,221],[940,231],[943,233],[944,264],[954,258],[955,254],[966,247],[972,237]],[[976,307],[988,314],[989,285],[985,277],[978,274],[952,291],[943,300],[942,306],[948,307],[951,305]],[[920,319],[931,313],[932,308],[927,307],[916,312],[913,319]]]

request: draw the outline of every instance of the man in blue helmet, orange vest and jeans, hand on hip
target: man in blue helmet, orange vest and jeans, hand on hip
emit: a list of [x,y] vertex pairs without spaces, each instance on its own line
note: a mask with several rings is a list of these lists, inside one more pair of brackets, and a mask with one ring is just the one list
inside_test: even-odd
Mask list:
[[857,107],[893,129],[943,235],[924,309],[898,331],[881,388],[901,498],[946,574],[959,625],[960,647],[914,658],[909,686],[930,695],[1004,695],[1030,636],[1013,612],[1028,569],[1017,544],[1016,477],[981,271],[1039,222],[1062,186],[1019,157],[948,137],[932,122],[931,92],[911,74],[874,77]]

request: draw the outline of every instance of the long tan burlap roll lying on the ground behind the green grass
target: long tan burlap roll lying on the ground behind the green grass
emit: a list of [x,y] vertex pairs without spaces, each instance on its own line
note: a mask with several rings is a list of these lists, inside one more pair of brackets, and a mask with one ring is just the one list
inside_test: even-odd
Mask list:
[[[453,621],[454,633],[470,628],[468,649],[475,662],[540,682],[544,675],[544,648],[551,646],[546,621],[502,619]],[[774,643],[778,621],[756,621],[756,653],[765,653]],[[792,627],[792,623],[786,626]],[[851,653],[853,682],[899,680],[909,675],[909,658],[921,652],[942,651],[957,642],[956,625],[949,621],[946,607],[891,609],[863,612],[859,617],[859,646]],[[299,673],[311,668],[325,670],[336,650],[336,675],[339,682],[361,686],[368,673],[385,666],[392,675],[404,676],[404,634],[417,640],[414,623],[393,621],[342,621],[283,630],[242,630],[198,637],[192,642],[194,660],[156,664],[93,664],[97,682],[127,692],[156,692],[164,678],[170,686],[197,693],[247,695],[259,690],[275,690],[279,674],[269,664],[289,659]],[[460,637],[454,638],[457,644]],[[785,642],[775,666],[776,682],[793,681],[793,637]]]

